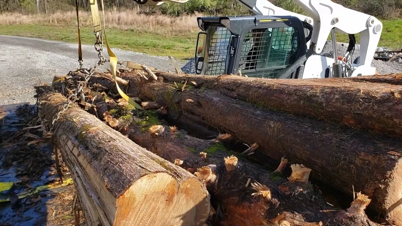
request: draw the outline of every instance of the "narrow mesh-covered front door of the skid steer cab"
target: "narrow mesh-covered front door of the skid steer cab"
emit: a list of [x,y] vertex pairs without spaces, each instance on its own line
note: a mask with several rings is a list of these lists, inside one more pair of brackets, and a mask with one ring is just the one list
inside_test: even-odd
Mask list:
[[208,51],[208,63],[205,74],[221,75],[225,73],[226,56],[228,55],[228,45],[231,36],[226,27],[213,27],[213,33]]

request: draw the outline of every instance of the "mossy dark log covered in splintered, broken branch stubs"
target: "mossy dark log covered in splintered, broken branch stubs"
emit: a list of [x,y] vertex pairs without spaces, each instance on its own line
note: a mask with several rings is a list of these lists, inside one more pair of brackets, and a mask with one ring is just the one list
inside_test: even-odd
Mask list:
[[[276,221],[284,226],[289,222],[298,226],[377,225],[367,219],[364,208],[347,212],[328,205],[320,191],[308,183],[308,176],[304,177],[308,168],[292,165],[296,170],[291,178],[295,179],[288,181],[280,172],[231,156],[233,153],[219,142],[227,136],[212,140],[194,138],[158,121],[156,115],[128,116],[117,103],[103,100],[96,105],[101,115],[114,112],[113,117],[121,122],[116,129],[135,143],[183,168],[198,169],[198,177],[205,181],[220,208],[226,210],[221,225],[255,226]],[[302,175],[303,183],[298,183],[299,177],[294,175]],[[249,185],[245,186],[247,181]],[[212,204],[216,208],[217,204]]]

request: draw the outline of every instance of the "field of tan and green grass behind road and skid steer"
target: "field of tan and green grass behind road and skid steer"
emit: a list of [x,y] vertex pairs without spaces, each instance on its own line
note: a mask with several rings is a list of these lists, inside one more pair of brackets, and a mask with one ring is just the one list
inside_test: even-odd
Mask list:
[[[81,12],[81,38],[84,44],[93,44],[94,35],[89,12]],[[177,59],[194,55],[197,31],[197,15],[180,17],[162,14],[150,15],[135,10],[109,11],[106,14],[109,42],[112,47],[143,52],[151,55],[172,55]],[[381,20],[382,31],[379,46],[402,48],[402,19]],[[75,12],[41,14],[0,14],[0,34],[38,37],[77,43]],[[347,35],[337,34],[337,41],[348,42]]]

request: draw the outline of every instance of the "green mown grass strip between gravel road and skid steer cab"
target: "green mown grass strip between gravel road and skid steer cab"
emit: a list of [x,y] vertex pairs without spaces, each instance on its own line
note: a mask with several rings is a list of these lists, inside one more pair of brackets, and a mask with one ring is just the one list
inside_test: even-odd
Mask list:
[[[109,44],[112,48],[115,47],[150,55],[171,55],[177,59],[191,58],[195,51],[197,37],[197,33],[195,32],[172,37],[145,32],[139,33],[132,30],[107,29],[106,31]],[[78,43],[76,27],[0,25],[0,35],[17,35]],[[81,41],[83,44],[93,45],[95,36],[93,35],[92,28],[81,28]]]

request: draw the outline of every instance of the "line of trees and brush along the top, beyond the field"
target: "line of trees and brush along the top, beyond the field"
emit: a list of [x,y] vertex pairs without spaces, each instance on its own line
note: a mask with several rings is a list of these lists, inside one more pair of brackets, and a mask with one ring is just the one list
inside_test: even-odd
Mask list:
[[[293,0],[270,0],[289,11],[307,14]],[[184,4],[166,2],[162,6],[139,6],[133,0],[104,0],[106,8],[139,8],[144,13],[162,12],[172,16],[201,12],[207,15],[245,15],[250,12],[236,0],[189,0]],[[334,0],[345,7],[379,18],[400,17],[402,0]],[[89,10],[89,0],[78,0],[81,9]],[[47,13],[74,10],[75,0],[0,0],[1,12]]]

